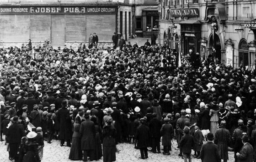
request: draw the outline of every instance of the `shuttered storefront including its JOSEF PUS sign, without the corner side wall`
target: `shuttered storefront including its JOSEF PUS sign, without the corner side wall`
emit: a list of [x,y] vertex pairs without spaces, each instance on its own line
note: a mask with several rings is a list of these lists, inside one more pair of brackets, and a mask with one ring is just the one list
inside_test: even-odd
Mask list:
[[117,31],[117,5],[1,6],[0,44],[51,40],[53,46],[88,42],[96,33],[99,42],[112,42]]

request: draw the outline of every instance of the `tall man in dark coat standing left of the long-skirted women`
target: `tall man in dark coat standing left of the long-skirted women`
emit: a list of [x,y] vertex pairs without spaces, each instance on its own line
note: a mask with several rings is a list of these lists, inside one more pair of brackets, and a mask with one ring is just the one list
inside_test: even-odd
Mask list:
[[68,103],[68,100],[62,101],[62,108],[59,109],[57,119],[59,121],[60,146],[64,146],[64,142],[66,140],[67,147],[71,147],[70,141],[72,138],[72,124],[71,117],[69,116],[69,110],[67,109]]

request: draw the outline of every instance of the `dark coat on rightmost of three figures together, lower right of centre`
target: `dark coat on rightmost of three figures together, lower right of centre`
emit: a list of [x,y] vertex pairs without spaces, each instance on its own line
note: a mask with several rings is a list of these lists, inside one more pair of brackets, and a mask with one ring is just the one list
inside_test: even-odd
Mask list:
[[173,127],[171,124],[163,124],[161,127],[162,145],[171,146]]

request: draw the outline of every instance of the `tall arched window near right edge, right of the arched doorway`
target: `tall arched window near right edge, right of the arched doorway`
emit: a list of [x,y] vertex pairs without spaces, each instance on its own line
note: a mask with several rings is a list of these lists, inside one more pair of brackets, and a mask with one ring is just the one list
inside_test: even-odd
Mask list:
[[239,66],[249,66],[249,47],[246,40],[239,44]]

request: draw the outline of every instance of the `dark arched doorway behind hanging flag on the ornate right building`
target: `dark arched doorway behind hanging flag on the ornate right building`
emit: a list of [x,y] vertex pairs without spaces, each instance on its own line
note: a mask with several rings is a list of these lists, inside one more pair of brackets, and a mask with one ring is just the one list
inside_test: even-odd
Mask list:
[[222,56],[221,56],[221,42],[219,39],[219,35],[215,34],[214,35],[214,42],[213,42],[213,35],[210,36],[210,40],[209,40],[209,55],[213,56],[213,43],[215,45],[214,49],[215,49],[215,56],[214,56],[214,61],[216,61],[217,59],[219,59],[219,61],[223,62]]

